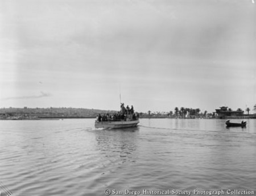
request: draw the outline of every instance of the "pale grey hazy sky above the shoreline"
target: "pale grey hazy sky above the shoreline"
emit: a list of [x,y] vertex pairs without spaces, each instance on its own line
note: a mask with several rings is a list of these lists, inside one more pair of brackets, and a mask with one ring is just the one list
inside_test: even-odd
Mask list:
[[1,0],[0,107],[253,112],[255,40],[253,0]]

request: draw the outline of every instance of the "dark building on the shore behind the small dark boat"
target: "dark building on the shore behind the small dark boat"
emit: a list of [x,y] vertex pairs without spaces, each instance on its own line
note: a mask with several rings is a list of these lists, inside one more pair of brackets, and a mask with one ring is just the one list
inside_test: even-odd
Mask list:
[[233,111],[232,109],[228,109],[228,107],[222,106],[220,109],[216,109],[216,112],[214,112],[214,116],[216,118],[242,118],[243,117],[243,110],[237,109],[236,111]]

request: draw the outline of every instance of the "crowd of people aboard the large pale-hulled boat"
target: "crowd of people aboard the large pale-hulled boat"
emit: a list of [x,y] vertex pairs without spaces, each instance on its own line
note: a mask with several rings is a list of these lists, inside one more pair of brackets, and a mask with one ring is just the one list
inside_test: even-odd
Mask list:
[[108,121],[120,121],[120,120],[137,120],[139,118],[139,114],[134,112],[133,106],[131,108],[127,105],[125,107],[124,103],[121,103],[121,110],[118,111],[117,114],[99,114],[96,117],[98,122],[108,122]]

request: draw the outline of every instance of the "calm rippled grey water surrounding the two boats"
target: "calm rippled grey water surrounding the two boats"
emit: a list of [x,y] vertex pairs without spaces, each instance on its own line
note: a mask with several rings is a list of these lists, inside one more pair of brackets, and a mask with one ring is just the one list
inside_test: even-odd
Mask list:
[[1,120],[0,185],[20,196],[256,195],[256,120],[246,121],[228,129],[220,119],[141,119],[96,130],[94,119]]

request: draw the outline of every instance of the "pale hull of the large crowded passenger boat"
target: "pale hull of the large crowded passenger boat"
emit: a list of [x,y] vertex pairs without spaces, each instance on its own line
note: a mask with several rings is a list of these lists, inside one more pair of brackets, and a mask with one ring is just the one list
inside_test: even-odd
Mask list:
[[130,121],[106,121],[106,122],[95,122],[95,128],[129,128],[136,127],[139,120]]

